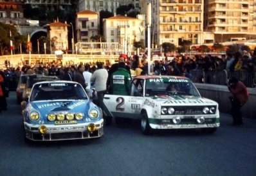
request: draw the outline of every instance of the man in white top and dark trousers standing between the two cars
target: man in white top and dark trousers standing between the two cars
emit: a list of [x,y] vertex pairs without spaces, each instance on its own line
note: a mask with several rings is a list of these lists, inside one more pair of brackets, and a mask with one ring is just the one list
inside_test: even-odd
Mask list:
[[105,124],[110,125],[112,122],[112,115],[105,106],[103,100],[104,100],[104,95],[107,93],[107,77],[108,77],[108,72],[105,68],[103,68],[103,63],[97,62],[96,63],[98,69],[93,72],[91,76],[91,82],[95,83],[95,91],[97,92],[97,97],[98,97],[98,106],[102,108],[102,111],[105,113]]

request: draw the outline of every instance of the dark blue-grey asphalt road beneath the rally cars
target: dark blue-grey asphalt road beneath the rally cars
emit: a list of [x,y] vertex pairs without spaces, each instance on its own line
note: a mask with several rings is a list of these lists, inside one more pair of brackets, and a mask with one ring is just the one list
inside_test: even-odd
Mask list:
[[172,130],[144,136],[140,124],[112,124],[98,140],[24,143],[15,92],[0,113],[0,175],[256,175],[256,120],[214,134]]

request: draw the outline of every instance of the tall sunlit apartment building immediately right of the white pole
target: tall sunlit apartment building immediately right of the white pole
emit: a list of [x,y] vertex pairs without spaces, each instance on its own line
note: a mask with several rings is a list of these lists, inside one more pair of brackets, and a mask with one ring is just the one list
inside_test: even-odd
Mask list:
[[152,0],[151,3],[154,46],[164,42],[178,46],[183,40],[203,43],[203,0]]

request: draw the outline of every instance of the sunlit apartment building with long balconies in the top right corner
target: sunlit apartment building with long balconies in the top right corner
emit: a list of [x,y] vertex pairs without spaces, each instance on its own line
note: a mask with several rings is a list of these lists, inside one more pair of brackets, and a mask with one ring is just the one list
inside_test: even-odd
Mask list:
[[205,31],[214,33],[214,42],[256,38],[256,1],[205,1]]

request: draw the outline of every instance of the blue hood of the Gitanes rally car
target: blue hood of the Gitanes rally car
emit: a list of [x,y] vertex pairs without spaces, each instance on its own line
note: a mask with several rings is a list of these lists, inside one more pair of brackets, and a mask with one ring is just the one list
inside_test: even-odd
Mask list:
[[70,113],[83,113],[89,109],[89,100],[61,100],[30,102],[33,109],[41,114],[50,112],[69,111]]

